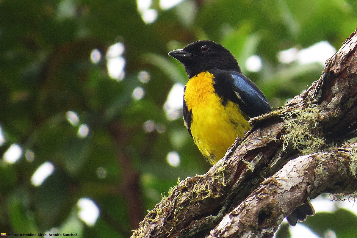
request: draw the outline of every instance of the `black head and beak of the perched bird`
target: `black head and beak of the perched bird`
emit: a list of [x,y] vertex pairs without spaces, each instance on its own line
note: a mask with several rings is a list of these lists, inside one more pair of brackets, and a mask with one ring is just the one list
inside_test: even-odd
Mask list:
[[185,66],[188,78],[211,69],[241,71],[232,53],[210,40],[193,42],[183,49],[170,51],[169,55]]

